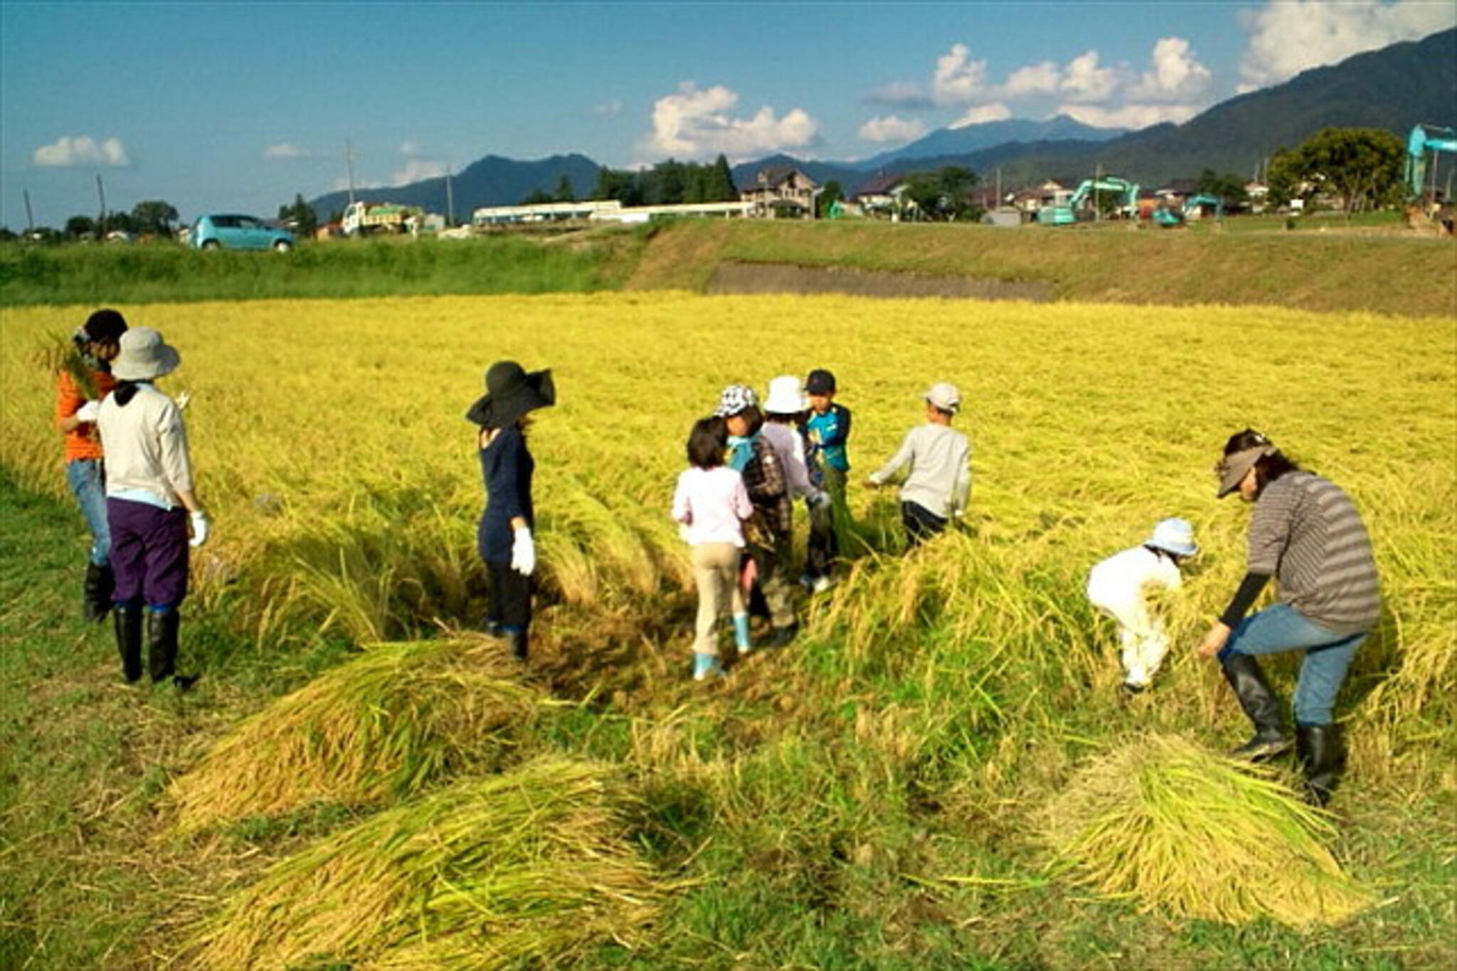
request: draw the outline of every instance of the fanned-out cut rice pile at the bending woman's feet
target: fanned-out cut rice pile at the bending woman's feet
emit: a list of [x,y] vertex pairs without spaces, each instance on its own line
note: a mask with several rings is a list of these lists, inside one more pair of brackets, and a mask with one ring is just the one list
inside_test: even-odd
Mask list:
[[1244,924],[1338,924],[1372,903],[1326,849],[1335,830],[1269,769],[1170,735],[1126,740],[1050,808],[1056,866],[1139,910]]

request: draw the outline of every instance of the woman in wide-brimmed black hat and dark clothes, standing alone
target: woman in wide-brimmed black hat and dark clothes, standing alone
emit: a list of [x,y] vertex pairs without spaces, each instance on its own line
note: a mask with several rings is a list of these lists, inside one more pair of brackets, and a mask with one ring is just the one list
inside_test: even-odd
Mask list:
[[466,419],[481,427],[485,512],[476,530],[476,549],[491,581],[485,627],[488,633],[507,638],[511,652],[522,661],[532,623],[532,572],[536,569],[532,537],[536,463],[526,447],[526,415],[555,402],[551,371],[527,373],[516,361],[497,361],[485,371],[485,396],[466,412]]

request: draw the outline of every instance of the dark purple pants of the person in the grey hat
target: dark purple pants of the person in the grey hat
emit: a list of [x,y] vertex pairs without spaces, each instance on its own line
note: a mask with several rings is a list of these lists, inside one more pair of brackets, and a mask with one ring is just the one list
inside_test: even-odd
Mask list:
[[176,607],[186,597],[186,510],[106,499],[117,603]]

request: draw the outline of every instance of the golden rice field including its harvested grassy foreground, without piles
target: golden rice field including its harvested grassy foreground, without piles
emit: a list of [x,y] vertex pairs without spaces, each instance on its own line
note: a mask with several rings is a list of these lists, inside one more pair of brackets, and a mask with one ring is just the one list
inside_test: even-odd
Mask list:
[[[676,884],[645,939],[622,929],[637,951],[606,943],[584,952],[587,967],[1400,968],[1454,956],[1450,320],[682,294],[122,309],[179,344],[185,364],[168,387],[194,395],[217,533],[198,556],[184,655],[204,680],[182,699],[122,689],[108,632],[71,619],[80,527],[35,418],[48,380],[34,352],[77,312],[6,310],[0,432],[26,491],[3,492],[0,575],[0,955],[12,962],[189,955],[197,920],[287,885],[300,860],[396,825],[482,767],[535,758],[632,780],[647,806],[634,843]],[[962,336],[972,319],[975,338]],[[699,346],[715,349],[683,352]],[[506,354],[551,364],[561,389],[532,432],[546,604],[527,678],[558,703],[522,721],[507,748],[494,731],[490,751],[452,742],[449,758],[386,793],[176,831],[186,789],[169,785],[197,777],[240,718],[373,641],[472,625],[479,482],[460,412],[481,367]],[[975,531],[892,556],[893,502],[855,489],[857,565],[806,609],[801,642],[750,655],[726,684],[694,686],[692,597],[664,514],[683,431],[727,380],[762,384],[813,364],[841,374],[861,470],[916,421],[927,380],[963,381]],[[1332,840],[1380,903],[1339,927],[1166,920],[1048,871],[1045,809],[1090,757],[1148,731],[1206,750],[1244,731],[1214,668],[1182,651],[1158,690],[1120,708],[1112,633],[1081,585],[1096,558],[1160,515],[1190,517],[1205,553],[1171,606],[1187,645],[1240,575],[1247,511],[1217,504],[1206,470],[1246,421],[1352,492],[1383,569],[1387,614],[1340,705],[1354,760]],[[1289,659],[1272,670],[1288,691]],[[283,869],[261,876],[271,862]],[[270,920],[255,910],[239,923],[296,948]],[[347,930],[331,926],[373,946]]]

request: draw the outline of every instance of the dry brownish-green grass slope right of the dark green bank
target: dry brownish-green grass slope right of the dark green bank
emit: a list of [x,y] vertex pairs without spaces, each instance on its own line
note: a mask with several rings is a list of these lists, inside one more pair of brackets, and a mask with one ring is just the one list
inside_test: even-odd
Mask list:
[[[1384,214],[1383,214],[1384,217]],[[1139,304],[1269,304],[1300,310],[1457,313],[1457,245],[1413,234],[1100,226],[679,221],[657,233],[631,288],[702,290],[721,261],[849,266],[1052,284],[1056,298]],[[1260,224],[1252,224],[1260,229]]]

